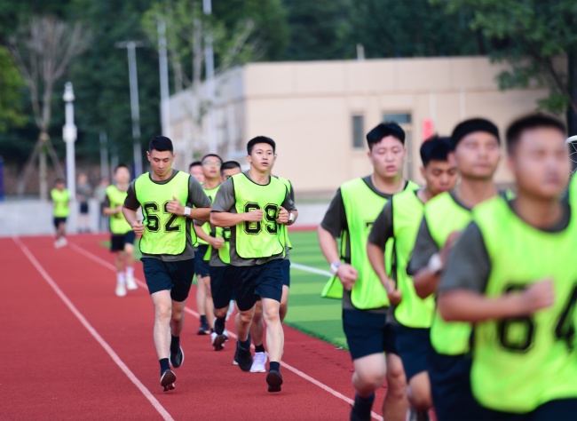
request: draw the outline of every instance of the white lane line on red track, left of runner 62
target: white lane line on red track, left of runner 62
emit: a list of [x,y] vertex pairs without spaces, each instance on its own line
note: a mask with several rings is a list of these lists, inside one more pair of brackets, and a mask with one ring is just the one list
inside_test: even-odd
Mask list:
[[12,236],[12,240],[16,242],[16,244],[18,244],[20,250],[22,250],[22,252],[28,258],[28,260],[30,260],[32,265],[36,267],[36,270],[42,275],[44,281],[46,281],[51,286],[51,289],[54,290],[54,292],[56,292],[56,295],[59,296],[59,298],[64,302],[64,304],[68,307],[68,309],[72,312],[72,314],[74,314],[76,318],[83,324],[84,328],[86,328],[86,330],[89,331],[89,333],[92,335],[92,338],[96,339],[96,341],[100,344],[100,346],[102,346],[104,350],[108,353],[110,358],[112,358],[112,360],[115,361],[116,365],[123,370],[123,373],[126,375],[126,377],[128,377],[130,381],[137,386],[138,390],[142,394],[144,394],[146,399],[150,401],[154,409],[156,409],[158,413],[161,415],[162,419],[166,421],[174,421],[174,418],[170,417],[168,411],[164,409],[164,407],[162,407],[161,402],[157,401],[156,398],[154,398],[153,394],[150,393],[148,389],[146,389],[146,386],[140,383],[138,377],[136,377],[134,373],[130,371],[128,366],[121,360],[118,354],[115,353],[112,347],[107,344],[107,341],[104,340],[104,338],[102,338],[99,335],[99,332],[92,327],[91,323],[88,322],[86,318],[83,316],[83,314],[80,313],[80,311],[75,307],[74,304],[72,304],[72,301],[70,301],[67,298],[66,294],[59,289],[59,286],[56,284],[56,282],[54,282],[51,276],[44,270],[43,266],[40,265],[38,260],[36,260],[32,252],[28,250],[28,247],[26,247],[22,242],[20,242],[20,238]]

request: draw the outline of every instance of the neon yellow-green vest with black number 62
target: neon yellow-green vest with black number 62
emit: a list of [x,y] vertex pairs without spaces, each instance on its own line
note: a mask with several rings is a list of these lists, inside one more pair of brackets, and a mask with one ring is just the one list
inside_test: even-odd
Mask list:
[[193,242],[196,235],[190,229],[192,219],[174,215],[167,211],[167,204],[178,199],[188,202],[188,180],[190,176],[178,171],[169,182],[159,184],[150,179],[150,173],[142,174],[134,183],[138,203],[144,215],[145,232],[140,240],[140,251],[146,254],[181,254],[186,248],[186,231],[190,230]]

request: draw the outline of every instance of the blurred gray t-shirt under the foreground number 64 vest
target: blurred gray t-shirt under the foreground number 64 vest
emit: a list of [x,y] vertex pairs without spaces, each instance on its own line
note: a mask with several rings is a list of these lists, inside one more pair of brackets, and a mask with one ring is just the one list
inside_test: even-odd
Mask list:
[[[514,201],[509,205],[513,212]],[[517,213],[515,212],[517,215]],[[549,233],[563,231],[571,219],[571,208],[564,201],[563,214],[554,226],[543,230]],[[510,262],[511,265],[522,265],[522,262]],[[465,228],[454,247],[449,251],[447,268],[441,275],[439,291],[470,290],[483,294],[486,282],[491,274],[491,261],[486,250],[483,234],[475,221]]]

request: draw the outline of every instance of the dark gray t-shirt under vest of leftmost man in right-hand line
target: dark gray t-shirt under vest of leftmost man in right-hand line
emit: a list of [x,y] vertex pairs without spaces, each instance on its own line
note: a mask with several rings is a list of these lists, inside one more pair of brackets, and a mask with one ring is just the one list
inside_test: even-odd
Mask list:
[[[387,200],[391,200],[392,195],[387,194],[387,193],[383,193],[383,192],[376,189],[375,185],[373,184],[373,180],[371,179],[371,176],[364,177],[363,181],[365,182],[365,184],[367,184],[368,188],[370,188],[370,190],[373,193],[375,193],[375,195],[383,197],[384,199],[387,199]],[[405,188],[407,188],[407,186],[408,186],[408,181],[407,181],[407,184],[405,185]],[[403,190],[405,188],[403,188]],[[346,211],[344,210],[343,195],[341,194],[340,188],[338,190],[336,190],[336,195],[335,195],[335,197],[333,197],[333,200],[331,201],[330,205],[328,206],[327,213],[325,213],[324,218],[322,218],[322,221],[320,222],[320,226],[322,226],[324,229],[326,229],[335,238],[342,238],[343,233],[348,231],[349,224],[346,220]],[[351,240],[350,240],[349,235],[346,235],[344,238],[345,238],[344,256],[341,256],[341,258],[343,258],[345,263],[350,264],[351,263]],[[343,291],[343,308],[345,310],[352,310],[355,308],[355,306],[352,305],[351,291],[349,291],[349,290]],[[368,312],[369,313],[376,313],[376,314],[386,314],[388,308],[389,307],[376,308],[376,309],[368,310]]]

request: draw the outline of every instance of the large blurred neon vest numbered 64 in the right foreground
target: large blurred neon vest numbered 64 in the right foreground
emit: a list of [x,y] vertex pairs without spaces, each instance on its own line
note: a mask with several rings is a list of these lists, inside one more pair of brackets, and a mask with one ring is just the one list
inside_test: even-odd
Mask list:
[[[577,398],[577,218],[559,232],[529,226],[495,197],[473,211],[489,261],[487,298],[553,282],[553,306],[526,317],[475,326],[471,385],[487,408],[529,412],[545,402]],[[577,414],[574,414],[577,416]]]

